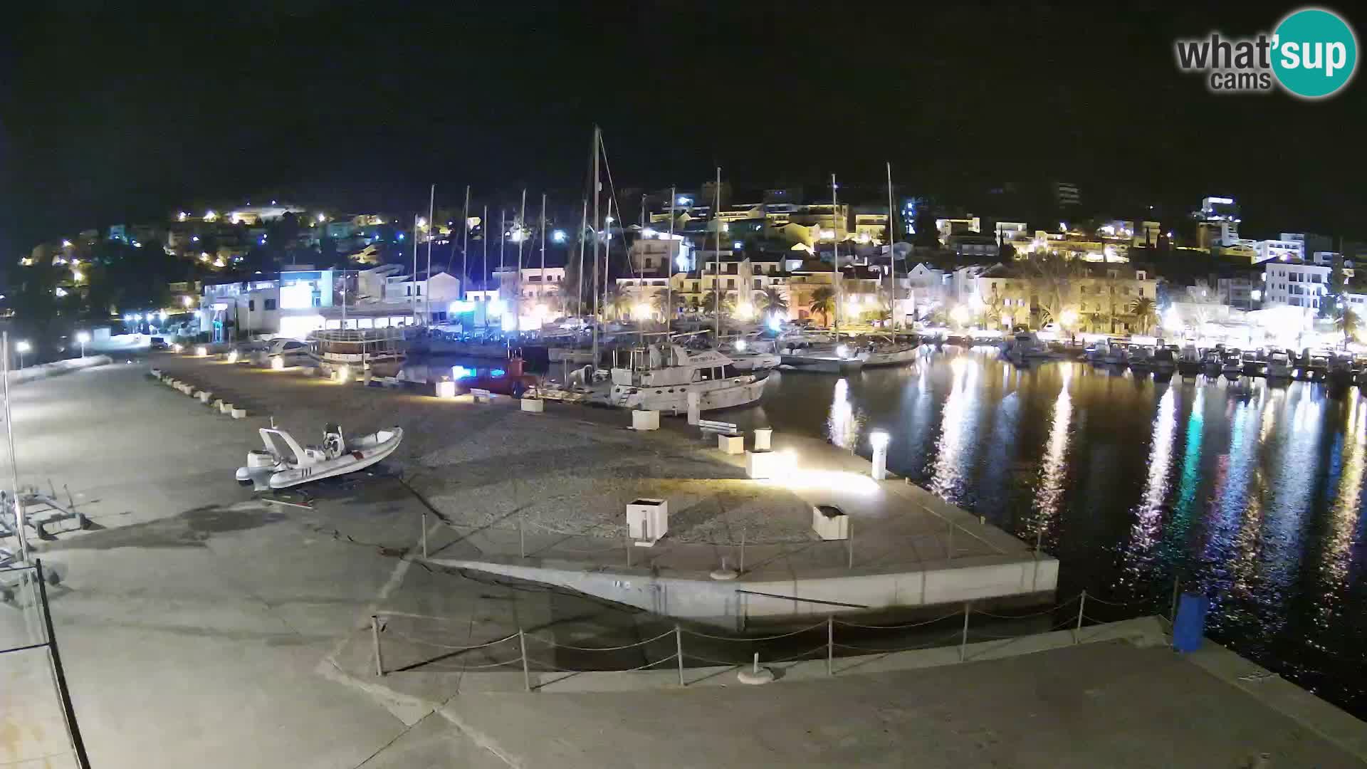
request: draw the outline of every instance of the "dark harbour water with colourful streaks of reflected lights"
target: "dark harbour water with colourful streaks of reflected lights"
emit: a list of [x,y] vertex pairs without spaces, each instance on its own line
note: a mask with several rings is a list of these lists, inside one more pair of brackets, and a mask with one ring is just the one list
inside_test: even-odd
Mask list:
[[890,469],[1031,543],[1042,532],[1059,595],[1166,613],[1180,579],[1211,597],[1213,638],[1367,713],[1356,389],[945,352],[845,378],[779,372],[763,410],[731,413],[865,456],[887,430]]

